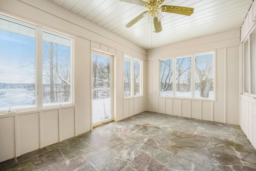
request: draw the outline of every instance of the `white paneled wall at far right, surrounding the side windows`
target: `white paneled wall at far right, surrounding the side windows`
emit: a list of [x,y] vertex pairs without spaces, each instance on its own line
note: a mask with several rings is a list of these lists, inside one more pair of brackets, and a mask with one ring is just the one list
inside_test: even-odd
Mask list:
[[[249,32],[255,25],[256,1],[247,13],[244,23],[241,27],[241,43],[248,37]],[[242,93],[242,75],[243,75],[243,53],[240,54],[240,86]],[[240,126],[252,145],[256,148],[256,99],[245,94],[240,94]]]

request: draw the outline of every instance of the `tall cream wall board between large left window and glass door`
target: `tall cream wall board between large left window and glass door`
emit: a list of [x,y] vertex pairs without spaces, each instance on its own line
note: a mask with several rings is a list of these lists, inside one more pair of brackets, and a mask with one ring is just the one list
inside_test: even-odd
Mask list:
[[[77,37],[75,51],[75,104],[77,115],[77,134],[91,130],[91,83],[90,83],[90,41]],[[95,43],[92,42],[94,45]],[[96,43],[98,44],[98,43]],[[95,44],[95,45],[96,45]]]

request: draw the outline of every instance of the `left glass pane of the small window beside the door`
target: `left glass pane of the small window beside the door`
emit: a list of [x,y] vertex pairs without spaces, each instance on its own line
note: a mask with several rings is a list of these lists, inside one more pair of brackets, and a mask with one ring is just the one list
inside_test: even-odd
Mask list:
[[124,57],[124,96],[131,96],[131,59]]

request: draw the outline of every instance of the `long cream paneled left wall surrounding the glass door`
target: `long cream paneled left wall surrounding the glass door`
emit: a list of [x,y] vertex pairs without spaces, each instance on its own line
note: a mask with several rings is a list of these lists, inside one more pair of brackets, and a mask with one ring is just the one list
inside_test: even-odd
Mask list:
[[0,162],[92,129],[92,49],[114,56],[114,119],[146,110],[146,92],[123,97],[123,55],[143,61],[146,90],[146,50],[44,0],[1,0],[0,13],[74,37],[74,105],[0,115]]

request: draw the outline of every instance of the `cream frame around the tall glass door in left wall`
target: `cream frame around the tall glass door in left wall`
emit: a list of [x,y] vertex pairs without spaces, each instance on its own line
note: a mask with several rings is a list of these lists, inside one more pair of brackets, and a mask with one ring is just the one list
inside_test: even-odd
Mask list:
[[[96,123],[93,123],[92,122],[92,117],[93,117],[93,113],[92,113],[92,90],[93,90],[93,87],[92,87],[92,55],[93,54],[96,54],[96,55],[100,55],[102,57],[108,57],[110,58],[110,112],[111,112],[111,118],[109,119],[106,119],[106,120],[102,120],[100,122],[96,122]],[[105,52],[100,52],[100,51],[97,51],[97,50],[92,50],[92,53],[91,53],[91,56],[90,56],[90,65],[91,65],[91,69],[90,69],[90,91],[91,91],[91,97],[90,97],[90,102],[91,102],[91,130],[92,128],[96,127],[96,126],[100,126],[102,124],[105,124],[105,123],[108,123],[108,122],[112,122],[114,120],[114,88],[113,88],[113,85],[114,85],[114,55],[109,55],[108,53],[105,53]]]

